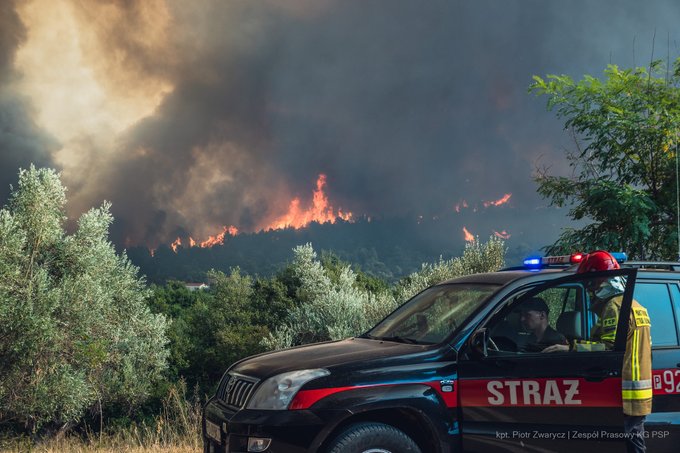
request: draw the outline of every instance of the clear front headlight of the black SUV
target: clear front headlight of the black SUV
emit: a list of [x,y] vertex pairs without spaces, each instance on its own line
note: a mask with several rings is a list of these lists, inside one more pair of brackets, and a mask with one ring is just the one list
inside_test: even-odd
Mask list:
[[260,384],[247,407],[248,409],[285,410],[300,387],[312,379],[329,374],[331,374],[330,371],[323,368],[277,374]]

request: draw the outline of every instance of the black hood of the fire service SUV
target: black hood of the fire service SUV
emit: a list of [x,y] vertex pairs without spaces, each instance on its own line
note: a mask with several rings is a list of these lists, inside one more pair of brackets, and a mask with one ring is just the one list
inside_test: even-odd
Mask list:
[[[279,373],[311,368],[332,369],[339,366],[379,366],[407,357],[420,358],[432,354],[431,345],[404,344],[391,341],[348,338],[346,340],[315,343],[281,351],[256,355],[236,363],[230,371],[258,379]],[[404,357],[406,356],[406,357]],[[354,367],[350,367],[354,368]]]

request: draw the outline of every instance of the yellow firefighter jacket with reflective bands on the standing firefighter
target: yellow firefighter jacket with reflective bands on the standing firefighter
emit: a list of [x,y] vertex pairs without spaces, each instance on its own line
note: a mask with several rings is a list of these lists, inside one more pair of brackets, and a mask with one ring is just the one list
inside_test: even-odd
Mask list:
[[[603,303],[595,304],[598,315],[589,342],[574,345],[576,351],[612,349],[616,338],[616,327],[621,312],[623,296],[615,296]],[[652,412],[652,340],[651,323],[647,309],[633,300],[626,351],[621,370],[621,396],[623,413],[626,415],[647,415]]]

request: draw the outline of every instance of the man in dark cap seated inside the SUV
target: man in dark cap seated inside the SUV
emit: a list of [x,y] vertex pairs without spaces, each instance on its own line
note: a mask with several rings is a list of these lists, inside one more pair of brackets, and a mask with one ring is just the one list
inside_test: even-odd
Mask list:
[[520,321],[522,327],[530,332],[522,352],[541,352],[551,345],[567,345],[567,339],[557,330],[550,327],[548,313],[550,309],[540,297],[532,297],[520,305]]

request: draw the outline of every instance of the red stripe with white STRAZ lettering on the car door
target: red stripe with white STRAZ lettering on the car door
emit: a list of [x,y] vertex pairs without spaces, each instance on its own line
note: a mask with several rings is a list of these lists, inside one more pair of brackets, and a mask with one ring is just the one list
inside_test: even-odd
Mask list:
[[621,407],[621,378],[474,379],[459,381],[461,406]]

